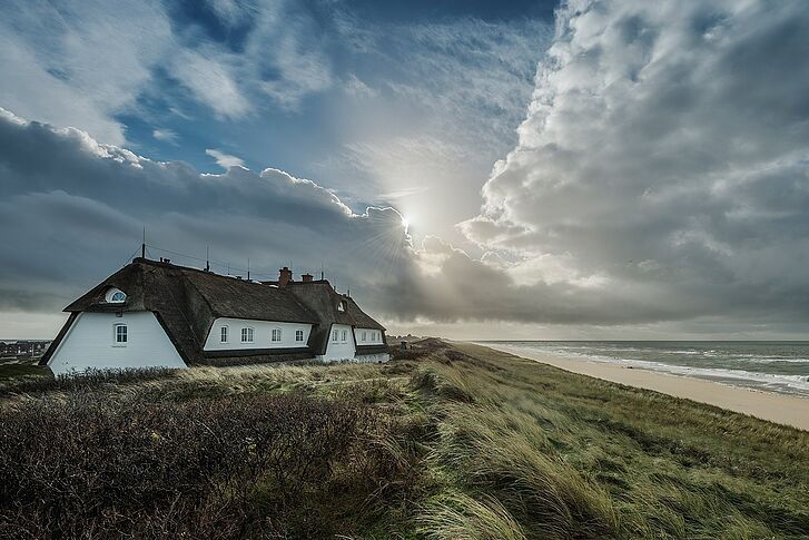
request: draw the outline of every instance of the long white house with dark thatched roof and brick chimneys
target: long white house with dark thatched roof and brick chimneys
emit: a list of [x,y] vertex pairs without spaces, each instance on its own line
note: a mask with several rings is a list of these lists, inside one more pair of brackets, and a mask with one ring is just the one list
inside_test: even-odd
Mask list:
[[65,308],[55,374],[314,359],[386,361],[385,328],[312,275],[256,282],[135,258]]

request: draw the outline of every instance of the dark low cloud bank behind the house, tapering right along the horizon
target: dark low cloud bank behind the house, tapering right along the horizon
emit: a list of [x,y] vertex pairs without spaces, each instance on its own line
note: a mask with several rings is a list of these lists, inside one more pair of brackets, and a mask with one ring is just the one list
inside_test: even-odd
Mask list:
[[[604,296],[569,302],[585,285],[524,285],[509,263],[475,261],[427,237],[416,246],[393,209],[357,215],[334,194],[283,171],[231,167],[199,174],[100,145],[87,134],[0,114],[0,311],[56,312],[122,266],[139,244],[201,257],[270,278],[294,262],[298,273],[324,263],[341,289],[386,320],[633,321],[637,303],[609,313]],[[152,251],[179,264],[199,259]],[[226,267],[216,265],[224,273]],[[665,308],[660,316],[669,315]]]

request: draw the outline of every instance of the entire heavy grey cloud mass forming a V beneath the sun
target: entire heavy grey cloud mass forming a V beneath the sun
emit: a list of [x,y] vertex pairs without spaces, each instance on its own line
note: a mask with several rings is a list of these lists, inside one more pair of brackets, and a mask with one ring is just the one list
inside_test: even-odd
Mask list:
[[809,322],[808,57],[799,2],[571,1],[519,145],[460,226],[481,259],[411,246],[395,210],[357,215],[279,170],[199,174],[3,114],[0,311],[60,308],[145,224],[154,244],[210,245],[254,274],[323,262],[387,321],[795,328]]

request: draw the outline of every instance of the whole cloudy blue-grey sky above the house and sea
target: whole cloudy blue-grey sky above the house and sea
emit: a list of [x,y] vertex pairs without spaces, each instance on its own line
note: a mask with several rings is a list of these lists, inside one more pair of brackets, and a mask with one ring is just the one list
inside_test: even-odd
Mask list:
[[[9,1],[0,337],[139,251],[388,333],[806,338],[800,1]],[[249,263],[248,263],[249,262]]]

